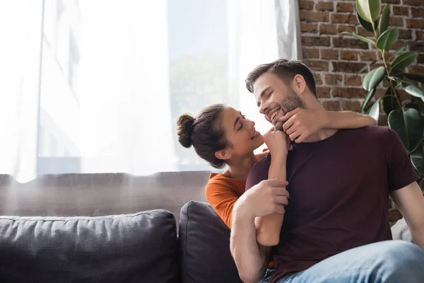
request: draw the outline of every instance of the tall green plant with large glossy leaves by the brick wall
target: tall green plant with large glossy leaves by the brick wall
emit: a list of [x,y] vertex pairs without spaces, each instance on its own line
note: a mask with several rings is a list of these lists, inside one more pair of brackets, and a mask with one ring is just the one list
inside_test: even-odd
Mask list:
[[[381,53],[381,59],[367,64],[360,70],[360,73],[372,64],[380,63],[382,65],[369,71],[363,78],[363,88],[367,91],[367,96],[365,96],[360,111],[371,115],[378,122],[382,105],[388,116],[389,127],[403,141],[406,151],[411,157],[411,162],[421,177],[419,184],[424,192],[424,91],[417,83],[424,83],[424,76],[405,72],[405,68],[415,62],[418,54],[404,51],[411,41],[404,42],[393,54],[389,54],[389,48],[399,38],[399,30],[388,26],[389,4],[382,9],[381,0],[356,0],[356,16],[360,25],[373,33],[374,37],[347,32],[341,34],[351,35],[359,40],[369,42]],[[383,81],[387,86],[385,95],[369,105],[375,96],[377,86]],[[401,99],[399,95],[401,90],[408,93],[408,98]]]

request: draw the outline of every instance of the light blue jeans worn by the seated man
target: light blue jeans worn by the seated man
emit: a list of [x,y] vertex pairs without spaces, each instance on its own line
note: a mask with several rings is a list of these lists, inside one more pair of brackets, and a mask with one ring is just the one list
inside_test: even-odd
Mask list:
[[[260,282],[269,282],[268,270]],[[346,250],[278,283],[423,283],[424,250],[406,241],[384,241]]]

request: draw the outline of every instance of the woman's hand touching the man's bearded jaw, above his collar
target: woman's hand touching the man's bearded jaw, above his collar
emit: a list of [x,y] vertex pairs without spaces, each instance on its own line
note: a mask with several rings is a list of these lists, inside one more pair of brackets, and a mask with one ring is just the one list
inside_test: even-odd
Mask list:
[[288,112],[280,120],[285,121],[283,125],[284,132],[296,143],[305,141],[327,123],[326,111],[305,110],[302,108],[296,108]]

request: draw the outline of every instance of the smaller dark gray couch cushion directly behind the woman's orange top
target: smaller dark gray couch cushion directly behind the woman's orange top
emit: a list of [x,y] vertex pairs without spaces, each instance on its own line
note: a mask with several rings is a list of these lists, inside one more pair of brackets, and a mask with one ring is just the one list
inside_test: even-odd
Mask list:
[[179,219],[182,282],[241,282],[230,253],[230,229],[205,202],[184,204]]

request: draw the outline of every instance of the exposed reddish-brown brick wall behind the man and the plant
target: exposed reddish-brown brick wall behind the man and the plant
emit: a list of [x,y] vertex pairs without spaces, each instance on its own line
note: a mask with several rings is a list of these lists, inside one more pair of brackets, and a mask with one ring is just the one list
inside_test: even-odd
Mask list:
[[[420,52],[416,64],[409,67],[415,74],[424,74],[424,0],[382,0],[391,5],[390,27],[399,28],[401,42],[414,40],[408,51]],[[362,28],[355,16],[355,1],[299,0],[302,53],[305,64],[314,71],[317,95],[328,110],[358,111],[365,98],[361,88],[366,63],[379,57],[371,44],[354,37],[340,35],[343,31],[372,36]],[[372,69],[380,65],[372,65]],[[369,71],[369,69],[368,69]],[[384,95],[383,88],[376,97]],[[382,115],[380,125],[387,125]]]

